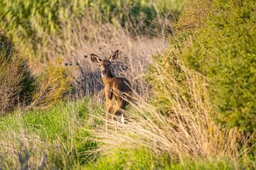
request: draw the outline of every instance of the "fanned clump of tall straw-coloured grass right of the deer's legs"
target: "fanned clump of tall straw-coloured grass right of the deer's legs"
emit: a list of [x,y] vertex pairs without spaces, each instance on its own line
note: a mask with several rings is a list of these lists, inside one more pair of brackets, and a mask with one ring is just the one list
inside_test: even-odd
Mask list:
[[[101,130],[90,130],[95,140],[104,144],[95,153],[108,153],[114,148],[146,147],[156,154],[169,154],[181,160],[187,157],[235,159],[242,153],[243,149],[238,152],[238,142],[245,144],[245,137],[236,128],[221,129],[208,116],[209,98],[207,84],[203,84],[204,77],[183,67],[181,62],[177,64],[184,73],[184,86],[175,77],[169,76],[176,74],[171,67],[166,72],[161,65],[154,63],[156,72],[151,73],[155,81],[160,82],[159,95],[163,95],[164,102],[169,103],[169,114],[161,113],[155,107],[154,99],[151,102],[145,101],[134,91],[137,100],[130,102],[131,109],[125,111],[126,123],[119,124],[118,132],[112,128],[106,134],[104,127]],[[105,120],[103,117],[101,119]],[[110,123],[115,125],[116,122],[110,120]]]

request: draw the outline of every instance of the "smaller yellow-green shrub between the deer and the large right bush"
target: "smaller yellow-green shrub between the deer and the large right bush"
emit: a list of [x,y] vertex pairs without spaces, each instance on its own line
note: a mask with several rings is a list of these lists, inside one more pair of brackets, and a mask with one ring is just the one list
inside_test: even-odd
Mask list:
[[[169,116],[173,113],[174,108],[170,98],[174,98],[175,101],[177,98],[174,96],[176,96],[178,100],[182,101],[185,97],[186,101],[189,101],[191,95],[187,93],[187,89],[190,86],[186,83],[186,73],[181,69],[181,64],[171,48],[161,56],[154,56],[154,62],[155,64],[147,69],[144,79],[154,87],[151,104],[163,115]],[[174,86],[174,84],[176,85]],[[178,86],[178,89],[176,89],[176,86]],[[193,107],[193,105],[190,107]]]

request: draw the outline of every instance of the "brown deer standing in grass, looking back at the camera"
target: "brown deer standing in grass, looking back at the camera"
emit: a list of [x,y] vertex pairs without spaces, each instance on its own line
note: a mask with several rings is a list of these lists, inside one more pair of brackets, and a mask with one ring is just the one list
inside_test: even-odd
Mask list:
[[[114,77],[110,70],[110,64],[112,61],[117,60],[119,55],[118,50],[113,52],[112,55],[107,60],[101,60],[97,55],[91,54],[92,62],[99,64],[100,72],[102,76],[103,84],[105,84],[105,98],[106,98],[106,132],[108,132],[107,122],[109,115],[111,115],[112,110],[112,120],[117,121],[121,115],[121,121],[124,125],[124,114],[123,111],[126,108],[128,101],[132,98],[132,86],[129,81],[124,77]],[[117,124],[115,125],[115,130],[117,131]]]

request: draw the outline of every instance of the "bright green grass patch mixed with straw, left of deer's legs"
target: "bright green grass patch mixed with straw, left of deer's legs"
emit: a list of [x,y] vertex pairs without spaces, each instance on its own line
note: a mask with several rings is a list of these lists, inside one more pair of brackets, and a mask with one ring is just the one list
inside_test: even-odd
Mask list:
[[[88,114],[90,109],[94,114],[103,114],[102,106],[93,106],[90,102],[90,98],[81,99],[45,111],[17,112],[1,117],[0,157],[4,161],[0,167],[5,169],[6,164],[10,164],[17,168],[29,162],[33,167],[43,154],[46,154],[48,168],[69,169],[85,164],[87,155],[80,153],[97,146],[96,142],[88,139],[86,129],[101,124],[100,120],[89,118]],[[11,152],[12,149],[16,151]],[[17,154],[22,150],[23,154],[30,155],[27,163],[17,160]],[[12,157],[7,157],[8,154]]]

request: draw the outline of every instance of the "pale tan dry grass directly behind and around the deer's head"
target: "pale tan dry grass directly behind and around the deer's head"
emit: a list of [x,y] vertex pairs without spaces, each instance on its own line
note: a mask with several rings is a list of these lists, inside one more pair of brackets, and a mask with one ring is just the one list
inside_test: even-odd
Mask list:
[[[71,33],[63,23],[62,36],[50,38],[50,49],[44,49],[52,60],[54,56],[64,57],[66,66],[75,68],[73,86],[79,95],[102,96],[103,89],[100,69],[92,64],[90,54],[107,58],[115,50],[120,55],[112,63],[112,73],[127,77],[141,96],[148,96],[149,89],[142,76],[151,62],[151,55],[161,53],[168,47],[166,38],[152,35],[131,35],[128,27],[113,26],[111,23],[98,24],[90,18],[70,23]],[[70,39],[71,40],[70,40]],[[51,62],[51,61],[49,61]]]

